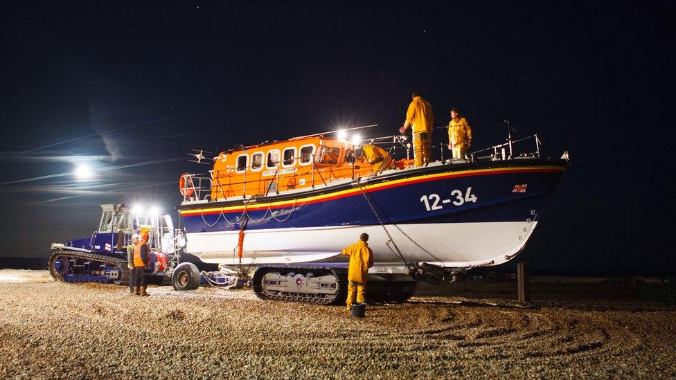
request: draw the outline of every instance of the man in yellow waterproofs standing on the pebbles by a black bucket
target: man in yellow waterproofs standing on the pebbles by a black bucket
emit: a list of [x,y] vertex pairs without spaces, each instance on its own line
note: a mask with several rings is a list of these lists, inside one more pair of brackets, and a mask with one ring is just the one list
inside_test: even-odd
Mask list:
[[350,269],[348,269],[348,311],[355,302],[365,301],[366,280],[368,269],[373,266],[373,251],[368,248],[368,234],[359,235],[359,242],[347,246],[341,253],[350,256]]

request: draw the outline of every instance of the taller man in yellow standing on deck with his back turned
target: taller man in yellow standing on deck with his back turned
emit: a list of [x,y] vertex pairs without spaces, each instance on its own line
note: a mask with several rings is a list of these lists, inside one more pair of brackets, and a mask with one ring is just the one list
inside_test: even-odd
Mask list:
[[434,127],[434,114],[432,106],[429,105],[420,93],[411,94],[411,104],[406,111],[406,120],[399,129],[401,134],[405,134],[407,129],[413,126],[413,157],[416,159],[416,167],[427,165],[430,156],[432,156],[432,128]]

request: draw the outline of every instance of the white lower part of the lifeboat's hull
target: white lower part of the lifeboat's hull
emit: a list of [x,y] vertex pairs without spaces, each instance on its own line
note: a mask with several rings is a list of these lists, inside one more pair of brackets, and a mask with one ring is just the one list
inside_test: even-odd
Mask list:
[[[387,225],[389,233],[408,262],[428,262],[447,267],[498,265],[521,252],[537,221],[482,223],[430,223]],[[403,232],[403,233],[402,233]],[[368,233],[375,267],[401,265],[386,246],[382,226],[337,226],[278,228],[244,232],[241,264],[294,264],[299,262],[342,262],[340,253]],[[405,235],[404,235],[405,234]],[[186,251],[203,262],[237,265],[238,231],[188,233]],[[394,247],[392,247],[394,248]]]

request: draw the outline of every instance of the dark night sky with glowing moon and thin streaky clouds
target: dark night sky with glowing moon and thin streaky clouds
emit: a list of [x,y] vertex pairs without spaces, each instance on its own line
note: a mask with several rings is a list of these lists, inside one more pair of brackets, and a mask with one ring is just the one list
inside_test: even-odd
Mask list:
[[[4,2],[0,256],[88,236],[100,203],[177,219],[179,174],[208,170],[192,148],[394,134],[418,91],[436,125],[459,107],[474,147],[503,142],[509,119],[570,152],[519,260],[675,270],[675,6],[468,3]],[[96,179],[76,181],[78,163]]]

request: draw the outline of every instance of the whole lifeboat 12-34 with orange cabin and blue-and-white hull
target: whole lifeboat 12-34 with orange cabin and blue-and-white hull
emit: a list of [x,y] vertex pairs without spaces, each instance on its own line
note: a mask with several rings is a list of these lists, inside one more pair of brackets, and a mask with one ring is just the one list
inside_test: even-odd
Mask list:
[[[364,144],[394,165],[375,171]],[[374,275],[499,265],[524,249],[569,165],[542,157],[537,135],[418,168],[410,146],[328,133],[219,152],[207,175],[181,175],[186,251],[223,267],[328,268],[368,233]]]

